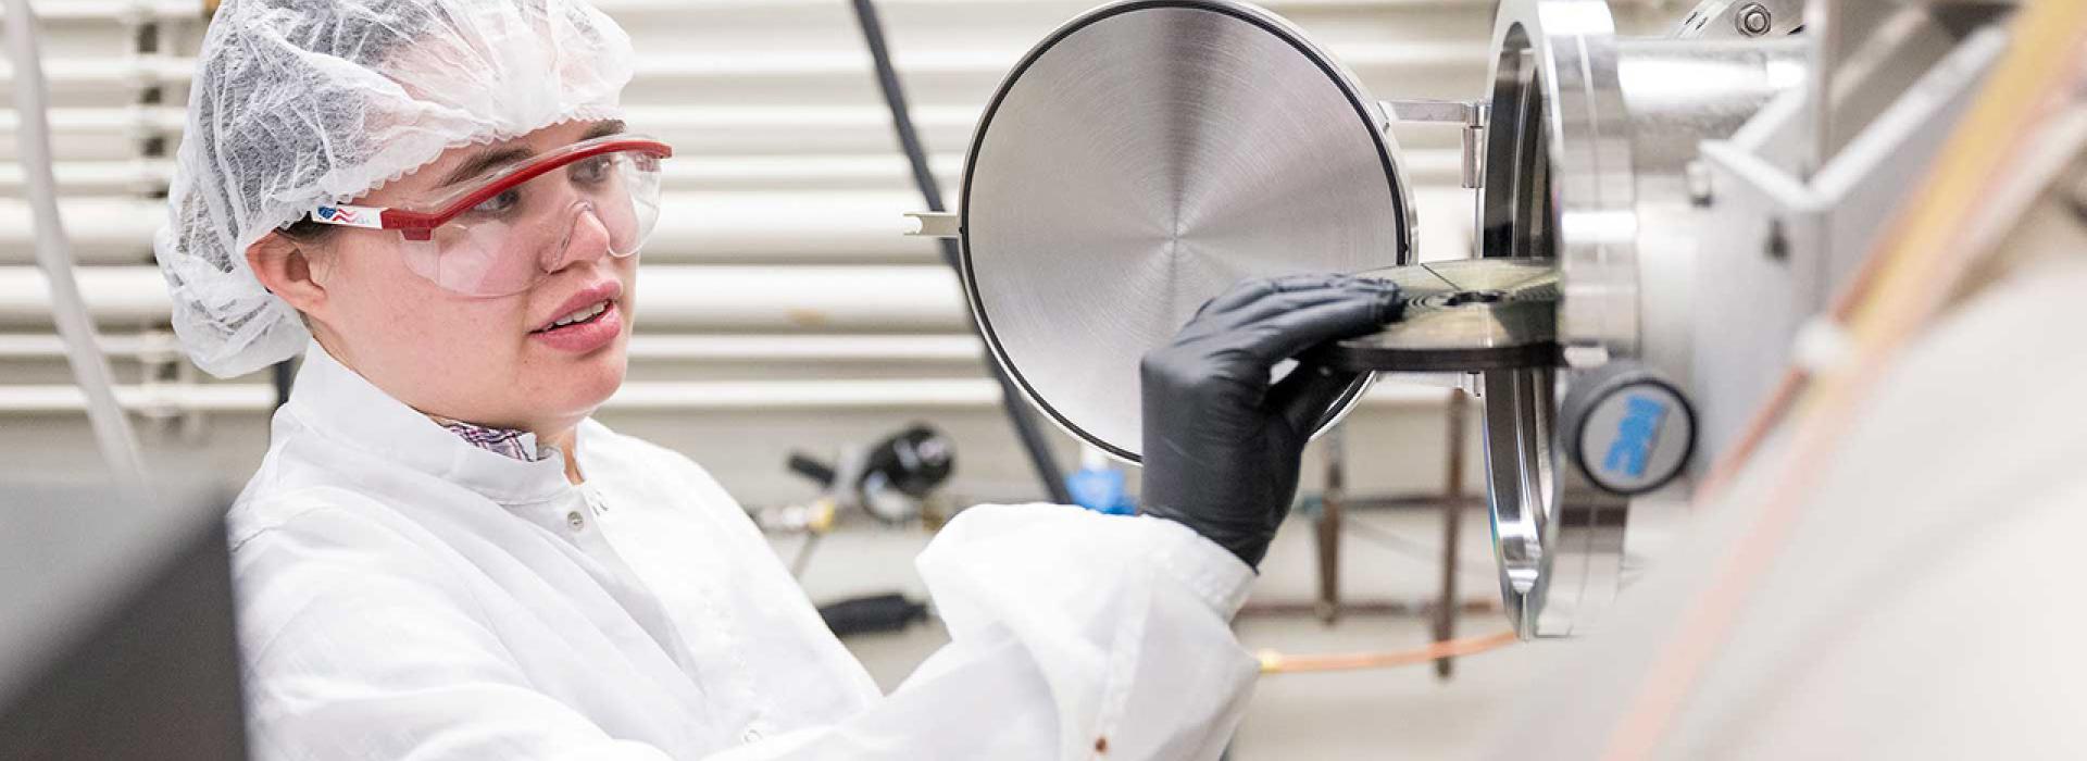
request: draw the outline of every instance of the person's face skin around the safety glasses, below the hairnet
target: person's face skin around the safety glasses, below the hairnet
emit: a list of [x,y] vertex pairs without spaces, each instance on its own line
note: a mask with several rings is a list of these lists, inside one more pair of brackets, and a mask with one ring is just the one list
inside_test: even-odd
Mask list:
[[[465,146],[357,200],[392,206],[470,186],[574,142],[620,131],[620,123],[570,123],[490,146]],[[547,175],[551,177],[551,175]],[[553,225],[561,227],[561,225]],[[478,425],[561,432],[591,415],[624,382],[637,256],[609,256],[609,238],[591,213],[574,215],[563,250],[557,236],[515,236],[503,254],[536,256],[549,271],[526,292],[461,296],[407,267],[397,231],[336,229],[311,256],[326,290],[307,311],[313,332],[344,365],[409,407]],[[553,327],[572,313],[605,306],[584,323]]]

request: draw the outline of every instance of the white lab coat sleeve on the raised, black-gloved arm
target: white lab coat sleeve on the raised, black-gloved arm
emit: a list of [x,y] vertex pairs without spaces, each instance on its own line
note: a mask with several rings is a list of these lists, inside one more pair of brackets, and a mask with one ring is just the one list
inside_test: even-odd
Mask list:
[[977,507],[920,555],[952,642],[835,726],[722,759],[1215,759],[1256,661],[1229,619],[1252,569],[1188,527]]

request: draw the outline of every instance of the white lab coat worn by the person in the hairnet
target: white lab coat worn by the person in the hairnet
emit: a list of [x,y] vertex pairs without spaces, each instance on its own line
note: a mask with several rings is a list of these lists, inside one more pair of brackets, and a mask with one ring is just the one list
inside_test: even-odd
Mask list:
[[313,346],[232,509],[253,753],[1208,759],[1254,680],[1244,563],[1029,505],[920,555],[952,642],[879,694],[703,469],[595,421],[578,463],[470,446]]

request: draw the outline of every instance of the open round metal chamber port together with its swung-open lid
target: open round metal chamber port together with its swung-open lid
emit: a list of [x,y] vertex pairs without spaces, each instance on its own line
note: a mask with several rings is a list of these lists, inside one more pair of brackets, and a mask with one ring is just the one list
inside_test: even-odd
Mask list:
[[[1567,361],[1480,377],[1501,592],[1526,638],[1599,617],[1636,509],[1563,467],[1559,398],[1611,359],[1688,386],[1688,167],[1803,83],[1803,56],[1774,35],[1620,40],[1603,0],[1501,4],[1490,92],[1461,111],[1467,136],[1484,129],[1478,240],[1557,263]],[[1413,259],[1388,117],[1242,2],[1117,2],[1066,23],[1002,83],[966,163],[964,286],[989,350],[1062,427],[1137,459],[1137,357],[1202,300],[1242,277]]]

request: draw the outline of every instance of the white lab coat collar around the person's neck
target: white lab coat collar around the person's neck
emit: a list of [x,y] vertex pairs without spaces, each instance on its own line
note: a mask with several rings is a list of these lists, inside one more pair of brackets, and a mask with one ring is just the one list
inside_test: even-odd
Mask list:
[[[545,502],[572,490],[563,455],[547,448],[549,457],[524,463],[472,446],[369,384],[328,354],[319,342],[311,342],[305,350],[305,367],[296,373],[284,413],[349,446],[459,484],[501,505]],[[580,432],[580,438],[584,436]]]

